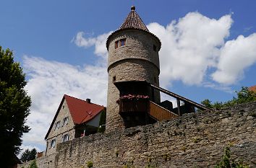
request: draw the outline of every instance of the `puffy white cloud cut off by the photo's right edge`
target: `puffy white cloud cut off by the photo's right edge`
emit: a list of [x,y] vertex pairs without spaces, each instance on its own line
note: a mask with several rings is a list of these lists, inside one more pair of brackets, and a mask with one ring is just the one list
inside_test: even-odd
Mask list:
[[218,70],[212,74],[221,84],[234,84],[242,78],[244,69],[256,62],[256,33],[227,41],[221,49]]

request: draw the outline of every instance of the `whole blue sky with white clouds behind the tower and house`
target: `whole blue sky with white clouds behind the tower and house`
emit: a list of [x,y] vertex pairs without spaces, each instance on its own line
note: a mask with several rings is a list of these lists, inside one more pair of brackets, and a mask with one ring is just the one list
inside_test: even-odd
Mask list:
[[20,61],[33,101],[27,119],[32,130],[23,148],[44,150],[44,135],[63,94],[106,105],[106,37],[132,5],[161,39],[162,87],[196,102],[215,102],[256,84],[253,0],[3,0],[0,45]]

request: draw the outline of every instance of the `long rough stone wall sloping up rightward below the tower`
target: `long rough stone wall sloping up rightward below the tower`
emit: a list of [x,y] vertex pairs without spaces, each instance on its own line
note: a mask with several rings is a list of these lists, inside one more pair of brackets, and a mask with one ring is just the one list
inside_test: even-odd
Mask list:
[[[196,112],[153,125],[97,133],[60,143],[54,167],[214,167],[231,145],[231,157],[256,167],[256,102]],[[45,159],[47,160],[47,159]],[[46,167],[38,162],[39,167]]]

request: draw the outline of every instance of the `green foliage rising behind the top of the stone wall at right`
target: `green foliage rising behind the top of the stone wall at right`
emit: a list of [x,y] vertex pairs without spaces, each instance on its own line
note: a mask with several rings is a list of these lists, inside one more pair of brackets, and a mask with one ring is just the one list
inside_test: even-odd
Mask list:
[[220,110],[223,107],[231,107],[244,102],[252,102],[252,101],[256,101],[256,93],[249,91],[248,87],[242,87],[242,89],[239,92],[236,91],[236,97],[233,97],[232,100],[229,100],[227,102],[212,103],[210,100],[203,100],[201,103],[206,107]]

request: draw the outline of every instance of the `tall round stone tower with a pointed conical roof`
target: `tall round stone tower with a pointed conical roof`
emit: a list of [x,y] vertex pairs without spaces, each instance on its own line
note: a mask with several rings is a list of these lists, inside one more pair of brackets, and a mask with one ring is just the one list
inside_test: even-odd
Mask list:
[[[106,131],[145,124],[145,115],[131,115],[127,120],[119,114],[116,100],[127,94],[147,95],[153,102],[160,102],[160,93],[151,91],[147,83],[159,86],[159,56],[161,42],[149,32],[132,6],[119,30],[108,36],[108,99]],[[145,82],[146,81],[146,82]],[[140,118],[139,118],[140,117]],[[134,121],[137,120],[137,123]],[[128,126],[129,127],[129,126]]]

